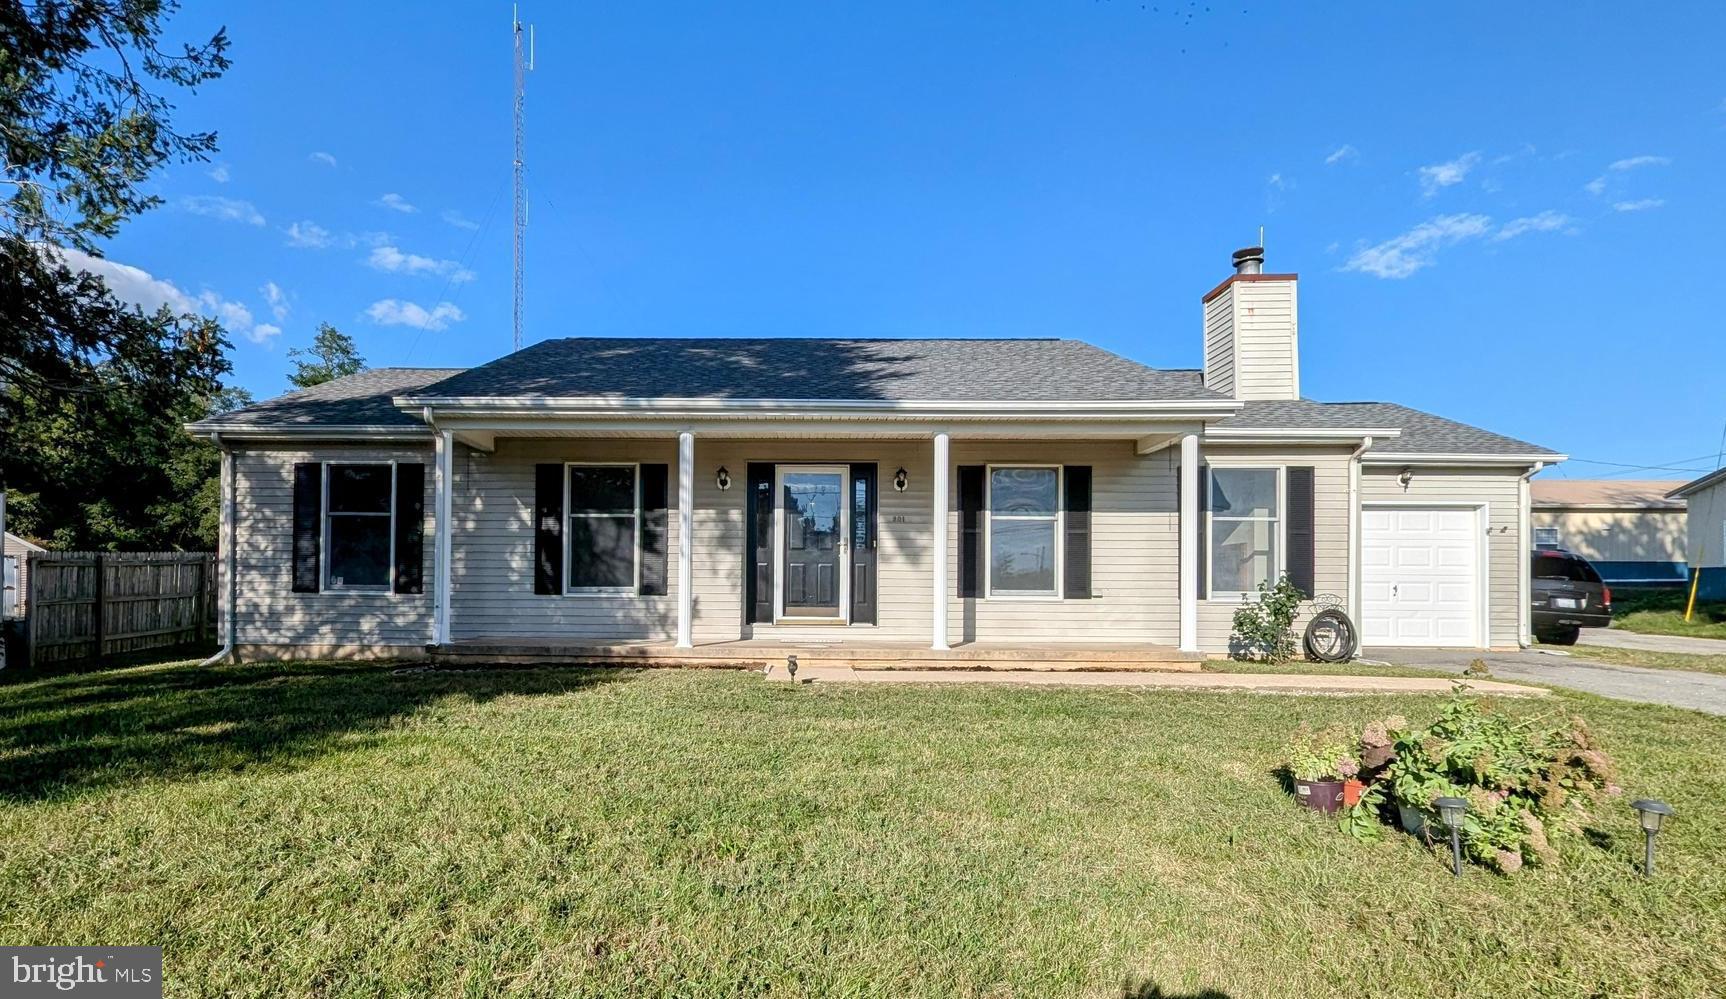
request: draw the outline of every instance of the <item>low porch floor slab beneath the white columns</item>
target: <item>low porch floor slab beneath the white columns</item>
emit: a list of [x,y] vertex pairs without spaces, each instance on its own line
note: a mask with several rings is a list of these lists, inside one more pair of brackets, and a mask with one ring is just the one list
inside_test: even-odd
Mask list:
[[960,642],[948,649],[879,638],[737,638],[680,647],[666,640],[573,642],[547,637],[464,638],[430,649],[435,664],[685,666],[715,669],[799,666],[849,669],[1155,669],[1193,673],[1205,656],[1150,644]]

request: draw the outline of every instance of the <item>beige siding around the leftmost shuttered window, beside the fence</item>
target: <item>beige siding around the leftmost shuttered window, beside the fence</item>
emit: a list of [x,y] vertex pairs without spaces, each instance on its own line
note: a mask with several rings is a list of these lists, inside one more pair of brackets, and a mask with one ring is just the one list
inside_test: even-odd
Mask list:
[[[423,594],[381,590],[293,592],[293,466],[297,462],[421,462],[425,487]],[[235,626],[242,647],[292,647],[295,656],[413,654],[432,640],[430,443],[321,445],[293,450],[235,447]]]

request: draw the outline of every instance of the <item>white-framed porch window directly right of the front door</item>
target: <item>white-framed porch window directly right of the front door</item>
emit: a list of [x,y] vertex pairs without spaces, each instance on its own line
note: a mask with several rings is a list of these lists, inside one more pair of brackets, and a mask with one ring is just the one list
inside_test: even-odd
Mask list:
[[1061,506],[1061,466],[989,466],[987,597],[1060,597]]

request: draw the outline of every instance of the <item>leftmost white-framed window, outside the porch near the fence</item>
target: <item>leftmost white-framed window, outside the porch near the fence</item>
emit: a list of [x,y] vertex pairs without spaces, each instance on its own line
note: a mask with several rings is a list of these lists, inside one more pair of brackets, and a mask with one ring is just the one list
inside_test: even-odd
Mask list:
[[395,462],[326,461],[324,590],[390,592],[395,569]]

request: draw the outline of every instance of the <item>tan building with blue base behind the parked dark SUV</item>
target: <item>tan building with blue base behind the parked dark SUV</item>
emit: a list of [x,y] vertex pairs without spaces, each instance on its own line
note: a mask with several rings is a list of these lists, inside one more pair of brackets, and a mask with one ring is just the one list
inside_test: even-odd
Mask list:
[[1536,549],[1576,552],[1607,583],[1681,585],[1685,500],[1666,493],[1679,481],[1538,478],[1533,490]]

